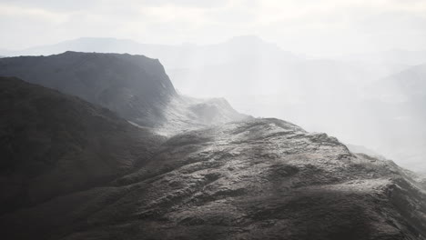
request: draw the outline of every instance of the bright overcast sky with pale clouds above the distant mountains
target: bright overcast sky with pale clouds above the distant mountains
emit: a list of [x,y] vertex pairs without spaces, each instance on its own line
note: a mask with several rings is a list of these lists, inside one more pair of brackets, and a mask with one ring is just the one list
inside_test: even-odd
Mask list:
[[426,49],[426,0],[0,0],[0,48],[84,36],[199,45],[259,35],[339,55]]

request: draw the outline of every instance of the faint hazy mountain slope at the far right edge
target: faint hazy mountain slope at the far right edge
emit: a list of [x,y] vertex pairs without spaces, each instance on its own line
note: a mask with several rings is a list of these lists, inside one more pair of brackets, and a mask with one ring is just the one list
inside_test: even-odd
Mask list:
[[384,137],[393,149],[394,159],[403,159],[407,165],[425,169],[426,150],[426,65],[416,65],[398,74],[376,81],[368,88],[373,111],[380,111],[380,123],[375,131]]

